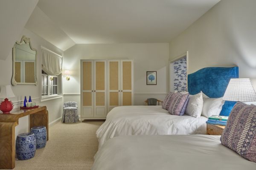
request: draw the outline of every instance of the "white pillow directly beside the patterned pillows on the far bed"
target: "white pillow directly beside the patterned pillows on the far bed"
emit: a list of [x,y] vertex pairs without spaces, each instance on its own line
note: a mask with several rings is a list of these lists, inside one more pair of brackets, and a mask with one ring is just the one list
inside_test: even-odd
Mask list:
[[203,104],[204,100],[202,92],[195,95],[189,95],[189,102],[185,113],[192,117],[200,117],[203,110]]

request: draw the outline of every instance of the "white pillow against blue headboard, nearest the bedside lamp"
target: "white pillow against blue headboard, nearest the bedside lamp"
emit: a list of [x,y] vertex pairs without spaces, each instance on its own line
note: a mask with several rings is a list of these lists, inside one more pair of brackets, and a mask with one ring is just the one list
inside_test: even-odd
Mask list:
[[220,98],[203,98],[204,106],[202,115],[205,117],[210,117],[212,115],[219,115],[221,113],[222,106],[224,105],[224,100]]

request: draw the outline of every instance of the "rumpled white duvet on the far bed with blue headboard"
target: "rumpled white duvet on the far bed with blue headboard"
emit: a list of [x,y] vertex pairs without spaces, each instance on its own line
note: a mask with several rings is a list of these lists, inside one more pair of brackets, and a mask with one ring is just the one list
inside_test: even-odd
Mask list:
[[207,118],[171,115],[162,106],[113,108],[96,132],[99,147],[115,136],[206,134]]

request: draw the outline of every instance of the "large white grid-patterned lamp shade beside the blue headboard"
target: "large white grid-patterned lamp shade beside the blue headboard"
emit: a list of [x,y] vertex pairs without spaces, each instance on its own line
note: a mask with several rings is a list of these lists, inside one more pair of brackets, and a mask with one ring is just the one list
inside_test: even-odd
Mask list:
[[256,102],[256,93],[250,79],[230,79],[223,100]]

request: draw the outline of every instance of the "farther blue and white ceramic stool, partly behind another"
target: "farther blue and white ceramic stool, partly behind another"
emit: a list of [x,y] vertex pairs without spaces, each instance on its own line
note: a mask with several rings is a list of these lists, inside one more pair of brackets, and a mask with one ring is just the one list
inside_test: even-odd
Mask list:
[[36,149],[45,147],[47,141],[47,130],[45,126],[35,126],[30,130],[31,133],[35,133]]

